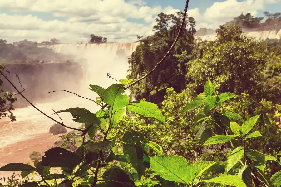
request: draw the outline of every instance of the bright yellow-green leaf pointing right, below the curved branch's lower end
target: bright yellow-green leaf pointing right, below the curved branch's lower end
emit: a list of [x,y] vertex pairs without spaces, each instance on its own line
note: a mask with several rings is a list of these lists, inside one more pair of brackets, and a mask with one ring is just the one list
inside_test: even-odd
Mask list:
[[135,112],[144,117],[153,117],[165,123],[165,119],[156,104],[147,101],[134,101],[126,106],[129,112]]

